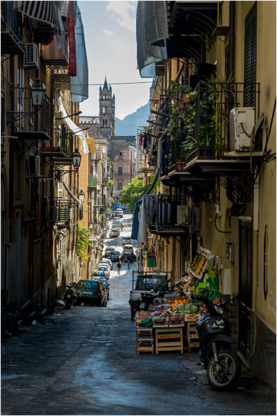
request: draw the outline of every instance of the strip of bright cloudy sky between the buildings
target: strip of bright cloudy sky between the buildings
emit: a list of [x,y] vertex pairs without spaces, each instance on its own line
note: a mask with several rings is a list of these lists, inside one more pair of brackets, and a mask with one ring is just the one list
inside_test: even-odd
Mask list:
[[[148,103],[152,79],[136,69],[137,1],[78,1],[84,25],[89,84],[103,84],[105,76],[116,96],[116,117],[123,119]],[[145,82],[135,85],[112,83]],[[89,98],[80,103],[82,115],[99,113],[99,87],[89,86]]]

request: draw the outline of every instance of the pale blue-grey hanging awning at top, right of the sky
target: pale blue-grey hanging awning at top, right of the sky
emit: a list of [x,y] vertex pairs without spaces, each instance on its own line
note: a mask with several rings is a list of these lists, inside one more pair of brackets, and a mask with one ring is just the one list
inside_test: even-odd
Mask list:
[[166,1],[139,1],[136,10],[136,45],[141,78],[154,77],[154,63],[168,58],[168,36]]

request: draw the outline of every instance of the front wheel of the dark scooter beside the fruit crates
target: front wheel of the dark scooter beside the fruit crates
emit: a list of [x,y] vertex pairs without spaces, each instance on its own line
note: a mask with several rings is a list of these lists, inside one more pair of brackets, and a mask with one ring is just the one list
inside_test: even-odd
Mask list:
[[240,358],[229,349],[223,349],[217,356],[218,364],[214,357],[208,363],[208,381],[215,390],[231,390],[238,383],[242,371]]

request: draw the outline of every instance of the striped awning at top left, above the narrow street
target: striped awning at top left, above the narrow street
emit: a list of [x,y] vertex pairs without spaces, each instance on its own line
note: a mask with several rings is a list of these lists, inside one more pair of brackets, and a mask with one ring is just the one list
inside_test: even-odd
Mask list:
[[56,1],[13,1],[13,8],[31,19],[43,21],[61,34]]

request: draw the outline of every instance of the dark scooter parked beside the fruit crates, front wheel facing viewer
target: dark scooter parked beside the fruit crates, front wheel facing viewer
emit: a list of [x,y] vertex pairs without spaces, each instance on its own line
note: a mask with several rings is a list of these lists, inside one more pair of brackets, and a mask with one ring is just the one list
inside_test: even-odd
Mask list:
[[208,309],[208,313],[200,316],[195,324],[199,334],[201,363],[215,390],[230,390],[240,379],[241,363],[238,354],[231,351],[231,345],[235,342],[231,338],[229,322],[223,315],[229,311],[226,305],[235,299],[240,300],[242,294],[237,293],[233,299],[217,305],[202,295],[196,298],[204,302]]

